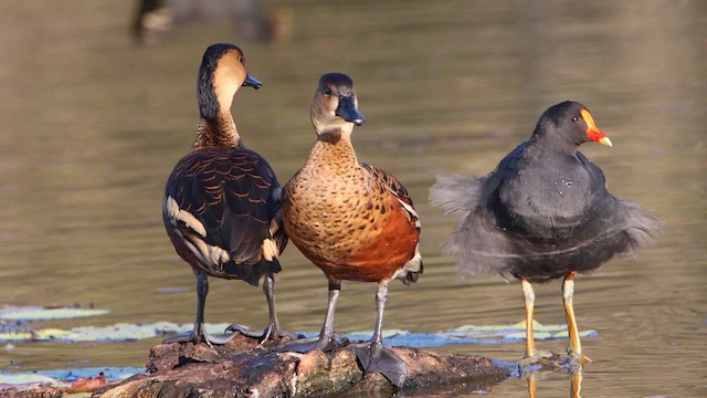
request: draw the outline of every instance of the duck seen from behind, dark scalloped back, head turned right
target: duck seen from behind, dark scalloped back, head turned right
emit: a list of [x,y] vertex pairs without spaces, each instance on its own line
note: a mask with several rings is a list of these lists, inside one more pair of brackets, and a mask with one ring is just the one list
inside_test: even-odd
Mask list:
[[[190,334],[165,343],[222,345],[239,333],[262,342],[286,334],[277,320],[273,276],[282,270],[278,256],[287,244],[282,186],[268,163],[245,148],[235,127],[231,105],[241,86],[262,86],[247,72],[243,51],[228,43],[210,45],[197,78],[197,137],[169,175],[162,200],[167,234],[197,275],[197,317]],[[263,280],[270,316],[265,331],[233,324],[223,335],[209,335],[204,324],[209,276],[254,286]]]

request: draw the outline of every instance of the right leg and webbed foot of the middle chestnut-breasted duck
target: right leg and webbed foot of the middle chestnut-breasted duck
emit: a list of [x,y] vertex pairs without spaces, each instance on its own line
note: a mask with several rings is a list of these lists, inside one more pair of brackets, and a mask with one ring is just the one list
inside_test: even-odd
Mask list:
[[366,374],[378,371],[394,386],[402,387],[408,376],[408,366],[391,349],[383,347],[383,312],[388,301],[388,281],[378,284],[376,292],[376,328],[370,342],[354,347]]

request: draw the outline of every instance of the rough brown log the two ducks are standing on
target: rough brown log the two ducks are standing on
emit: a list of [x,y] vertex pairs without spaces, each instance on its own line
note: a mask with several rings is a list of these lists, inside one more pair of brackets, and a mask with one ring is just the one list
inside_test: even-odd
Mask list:
[[[407,395],[487,390],[517,370],[516,364],[429,350],[392,348],[408,365]],[[363,373],[354,350],[274,353],[238,336],[223,346],[160,344],[150,352],[149,375],[134,376],[94,392],[118,397],[312,397],[390,396],[381,375]]]

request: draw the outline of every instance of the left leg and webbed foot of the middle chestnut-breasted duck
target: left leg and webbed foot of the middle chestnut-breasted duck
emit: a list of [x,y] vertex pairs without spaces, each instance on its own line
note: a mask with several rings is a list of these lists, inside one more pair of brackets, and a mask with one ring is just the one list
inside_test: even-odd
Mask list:
[[345,336],[338,336],[334,333],[334,314],[336,313],[336,304],[339,301],[340,292],[341,282],[329,279],[329,302],[327,305],[327,315],[324,318],[324,326],[321,326],[321,332],[318,337],[300,338],[279,345],[275,350],[307,353],[313,349],[321,349],[328,352],[348,345],[348,338]]

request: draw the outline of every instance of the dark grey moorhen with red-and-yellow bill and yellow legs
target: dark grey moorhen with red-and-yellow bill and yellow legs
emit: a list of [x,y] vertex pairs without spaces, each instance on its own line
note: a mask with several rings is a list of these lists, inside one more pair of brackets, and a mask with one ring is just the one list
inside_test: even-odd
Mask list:
[[583,366],[574,313],[577,274],[615,255],[635,259],[661,222],[635,202],[611,195],[601,168],[580,150],[584,143],[612,142],[579,102],[564,101],[540,116],[530,138],[485,177],[440,175],[430,189],[433,205],[462,214],[444,243],[458,256],[464,276],[497,273],[520,280],[526,311],[526,353],[521,365],[547,357],[534,338],[532,283],[562,279],[569,333],[568,365]]

